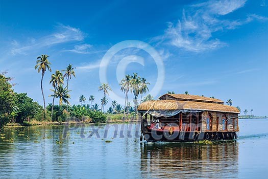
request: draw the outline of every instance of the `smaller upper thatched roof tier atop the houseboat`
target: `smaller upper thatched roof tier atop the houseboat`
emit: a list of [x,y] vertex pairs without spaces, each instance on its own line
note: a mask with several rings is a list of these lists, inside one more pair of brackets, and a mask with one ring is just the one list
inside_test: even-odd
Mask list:
[[165,94],[159,98],[160,100],[177,100],[177,101],[195,101],[195,102],[208,102],[224,104],[222,100],[215,98],[207,98],[197,95],[184,95],[184,94]]

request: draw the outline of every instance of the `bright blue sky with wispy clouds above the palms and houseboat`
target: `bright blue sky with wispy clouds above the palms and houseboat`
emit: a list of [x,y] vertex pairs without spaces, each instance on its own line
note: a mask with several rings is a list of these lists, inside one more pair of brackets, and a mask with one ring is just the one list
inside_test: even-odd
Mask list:
[[[104,55],[116,43],[139,40],[163,60],[164,83],[156,86],[155,98],[188,91],[267,115],[267,6],[265,0],[0,1],[0,71],[14,77],[16,92],[42,104],[41,74],[34,66],[37,56],[48,54],[53,72],[69,63],[76,67],[71,104],[82,94],[100,103]],[[159,78],[155,60],[138,48],[119,51],[107,65],[108,83],[121,97],[116,75],[138,72],[151,82],[150,90]],[[44,77],[46,103],[52,101],[51,74]]]

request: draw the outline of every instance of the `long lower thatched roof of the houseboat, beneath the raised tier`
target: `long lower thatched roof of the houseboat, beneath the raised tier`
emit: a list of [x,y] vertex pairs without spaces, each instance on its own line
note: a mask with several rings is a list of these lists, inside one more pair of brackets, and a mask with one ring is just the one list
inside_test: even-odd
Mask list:
[[157,100],[146,101],[138,106],[139,111],[147,110],[207,110],[223,113],[240,113],[236,107],[218,103],[196,101]]

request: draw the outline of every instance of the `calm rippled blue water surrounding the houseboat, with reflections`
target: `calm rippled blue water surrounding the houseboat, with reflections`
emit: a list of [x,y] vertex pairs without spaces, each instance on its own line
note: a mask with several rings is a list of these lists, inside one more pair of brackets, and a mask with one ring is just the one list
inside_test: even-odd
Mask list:
[[[135,124],[124,126],[132,127],[132,138],[126,130],[124,138],[119,132],[114,138],[113,127],[104,138],[106,126],[86,125],[85,138],[81,128],[71,128],[62,139],[64,127],[6,128],[0,136],[0,178],[268,177],[268,119],[241,119],[236,142],[214,145],[139,143]],[[100,138],[95,133],[88,138],[98,127]]]

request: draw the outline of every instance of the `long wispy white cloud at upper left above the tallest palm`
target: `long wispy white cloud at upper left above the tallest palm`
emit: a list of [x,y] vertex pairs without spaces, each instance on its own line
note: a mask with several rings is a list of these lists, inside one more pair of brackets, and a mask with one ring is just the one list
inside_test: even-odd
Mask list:
[[11,54],[21,54],[27,55],[27,53],[31,50],[37,50],[45,47],[51,47],[56,44],[71,42],[71,41],[82,41],[84,40],[86,34],[83,33],[80,29],[58,25],[58,31],[42,36],[40,38],[34,39],[31,38],[27,41],[27,43],[19,43],[18,41],[14,40],[11,44],[13,48],[11,49]]

